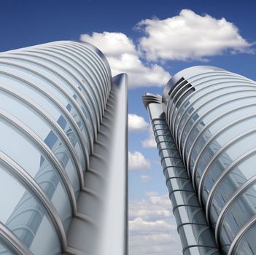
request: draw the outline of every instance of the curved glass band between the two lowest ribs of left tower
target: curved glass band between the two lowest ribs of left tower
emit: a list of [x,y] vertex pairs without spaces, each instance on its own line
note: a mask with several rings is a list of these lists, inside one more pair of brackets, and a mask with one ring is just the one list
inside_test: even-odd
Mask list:
[[33,254],[61,254],[58,234],[42,205],[9,175],[9,169],[1,162],[0,172],[0,221]]

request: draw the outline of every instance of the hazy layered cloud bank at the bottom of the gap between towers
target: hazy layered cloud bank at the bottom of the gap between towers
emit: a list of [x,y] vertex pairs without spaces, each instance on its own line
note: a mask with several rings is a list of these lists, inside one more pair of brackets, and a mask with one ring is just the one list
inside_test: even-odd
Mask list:
[[129,251],[131,255],[182,254],[171,202],[167,195],[148,192],[129,204]]

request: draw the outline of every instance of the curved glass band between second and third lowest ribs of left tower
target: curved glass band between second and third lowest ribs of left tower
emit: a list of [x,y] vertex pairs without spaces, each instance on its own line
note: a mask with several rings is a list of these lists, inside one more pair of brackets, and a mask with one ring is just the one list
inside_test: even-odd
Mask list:
[[[71,221],[72,211],[69,197],[66,194],[63,181],[61,181],[57,170],[33,142],[31,142],[28,137],[24,136],[23,133],[20,133],[16,127],[0,119],[0,130],[0,150],[11,157],[12,160],[15,160],[15,162],[25,169],[39,186],[42,187],[45,195],[47,195],[55,205],[67,231]],[[58,152],[58,154],[60,157],[63,156],[64,160],[63,153]],[[66,170],[68,169],[70,168],[66,168]],[[74,191],[78,193],[78,180],[74,182],[74,180],[71,179],[71,181],[73,181],[75,185]]]

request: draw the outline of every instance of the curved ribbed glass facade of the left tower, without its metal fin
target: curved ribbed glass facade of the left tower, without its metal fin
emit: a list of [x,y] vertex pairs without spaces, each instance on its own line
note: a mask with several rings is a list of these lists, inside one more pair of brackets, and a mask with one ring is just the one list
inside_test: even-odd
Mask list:
[[0,254],[62,254],[112,85],[84,42],[0,53]]

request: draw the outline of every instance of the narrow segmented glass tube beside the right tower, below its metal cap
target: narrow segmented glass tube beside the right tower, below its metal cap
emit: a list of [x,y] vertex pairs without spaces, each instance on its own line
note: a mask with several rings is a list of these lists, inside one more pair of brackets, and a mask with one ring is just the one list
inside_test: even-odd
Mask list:
[[[183,254],[218,254],[213,234],[165,119],[152,119],[152,129],[166,177]],[[191,235],[191,233],[197,233]]]

